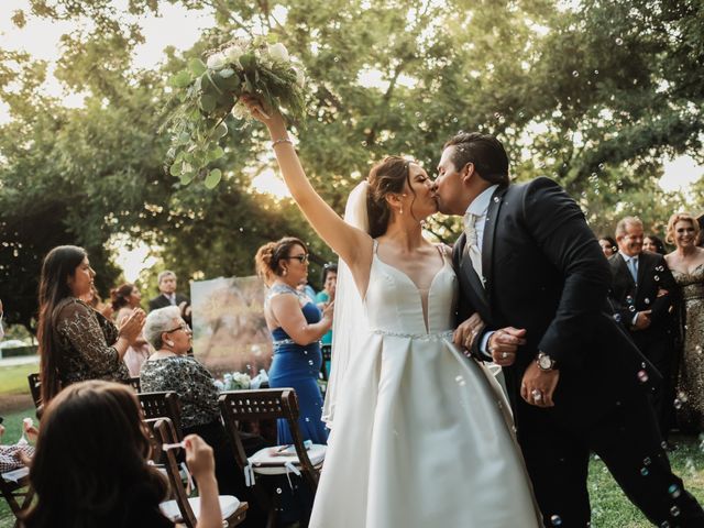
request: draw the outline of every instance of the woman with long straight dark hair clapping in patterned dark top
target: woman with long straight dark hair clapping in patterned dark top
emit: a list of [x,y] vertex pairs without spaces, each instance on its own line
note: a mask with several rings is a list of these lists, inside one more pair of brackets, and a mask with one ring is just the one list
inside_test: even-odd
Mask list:
[[75,245],[54,248],[42,264],[37,339],[44,404],[72,383],[130,381],[123,358],[142,331],[144,311],[134,310],[116,328],[80,300],[95,276],[86,251]]

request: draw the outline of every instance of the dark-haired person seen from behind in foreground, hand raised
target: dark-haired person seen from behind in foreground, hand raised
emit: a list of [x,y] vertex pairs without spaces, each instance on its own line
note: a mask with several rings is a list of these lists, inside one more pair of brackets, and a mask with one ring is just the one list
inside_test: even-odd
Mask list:
[[[221,527],[212,450],[195,435],[185,449],[201,501],[197,528]],[[168,484],[148,465],[150,452],[130,387],[91,381],[65,388],[42,417],[30,470],[37,498],[23,526],[174,527],[158,507]]]

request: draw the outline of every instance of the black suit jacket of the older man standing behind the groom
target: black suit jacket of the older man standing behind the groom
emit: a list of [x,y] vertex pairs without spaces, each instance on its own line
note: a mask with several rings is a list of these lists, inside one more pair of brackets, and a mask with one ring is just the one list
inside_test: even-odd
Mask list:
[[[672,332],[676,283],[662,255],[644,251],[638,255],[638,284],[620,253],[608,260],[612,268],[609,299],[614,318],[628,330],[638,311],[652,310],[650,327],[637,330],[639,339],[656,340]],[[663,289],[666,295],[658,297]]]

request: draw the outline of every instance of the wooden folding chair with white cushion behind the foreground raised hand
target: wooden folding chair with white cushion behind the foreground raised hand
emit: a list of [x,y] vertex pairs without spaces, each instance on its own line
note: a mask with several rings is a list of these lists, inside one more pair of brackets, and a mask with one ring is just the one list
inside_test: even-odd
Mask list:
[[[168,418],[147,420],[147,424],[152,425],[152,431],[158,447],[164,443],[176,443],[178,441],[174,424]],[[174,499],[162,503],[160,508],[162,513],[174,522],[183,522],[188,528],[195,528],[200,514],[200,498],[188,497],[180,475],[179,464],[176,460],[175,450],[169,449],[162,452],[164,453],[162,459],[165,462],[166,475]],[[219,499],[223,527],[234,527],[244,521],[249,508],[248,503],[241,503],[232,495],[220,495]]]

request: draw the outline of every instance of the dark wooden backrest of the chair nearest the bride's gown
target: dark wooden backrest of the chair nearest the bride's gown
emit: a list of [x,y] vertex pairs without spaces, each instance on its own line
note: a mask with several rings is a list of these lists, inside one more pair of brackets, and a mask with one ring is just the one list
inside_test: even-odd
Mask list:
[[248,458],[240,439],[238,421],[258,421],[267,419],[284,419],[288,424],[296,454],[301,466],[301,473],[310,488],[318,487],[318,471],[314,468],[304,439],[298,429],[298,398],[293,388],[266,388],[262,391],[228,391],[220,393],[218,398],[220,414],[232,442],[234,459],[244,471]]

